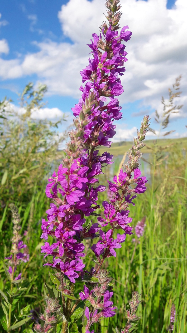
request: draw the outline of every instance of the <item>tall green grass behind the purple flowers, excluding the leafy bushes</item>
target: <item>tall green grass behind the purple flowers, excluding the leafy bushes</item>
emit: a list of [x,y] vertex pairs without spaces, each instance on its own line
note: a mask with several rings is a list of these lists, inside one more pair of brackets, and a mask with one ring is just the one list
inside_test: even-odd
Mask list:
[[[147,183],[147,191],[134,199],[135,206],[130,207],[129,216],[133,218],[132,225],[146,216],[146,227],[143,237],[137,246],[132,259],[135,243],[127,235],[121,249],[117,249],[116,258],[111,257],[105,262],[110,271],[115,286],[113,302],[117,306],[116,316],[111,318],[112,327],[122,329],[125,325],[124,305],[131,298],[131,291],[138,290],[141,294],[141,305],[138,314],[141,316],[136,328],[138,333],[167,332],[170,323],[171,306],[176,308],[174,331],[187,333],[187,156],[185,144],[187,139],[176,139],[169,151],[167,162],[158,166],[154,174],[155,186],[152,191],[151,177]],[[171,143],[171,141],[169,141]],[[147,141],[153,145],[152,141]],[[168,141],[160,140],[159,144],[167,145]],[[129,143],[119,146],[113,144],[109,152],[122,155],[130,148]],[[118,151],[117,151],[118,149]],[[113,150],[113,151],[112,151]],[[104,151],[104,150],[103,150]],[[102,151],[100,150],[100,153]],[[151,158],[151,156],[150,156]],[[120,161],[116,159],[114,173]],[[101,181],[106,182],[109,169],[102,175]],[[106,193],[101,193],[100,204],[107,199]],[[19,201],[17,201],[18,204]],[[45,282],[51,284],[49,268],[43,267],[41,247],[41,219],[46,216],[45,210],[50,200],[45,197],[45,188],[35,188],[33,197],[22,211],[22,230],[28,233],[24,237],[29,247],[30,261],[24,265],[24,277],[28,285],[27,296],[20,300],[20,308],[30,304],[30,309],[42,308],[43,297],[47,293]],[[0,226],[5,226],[7,206]],[[90,219],[89,217],[87,218]],[[96,217],[92,216],[96,221]],[[3,269],[3,258],[11,246],[12,224],[6,224],[6,230],[1,237],[0,259],[0,289],[3,290],[6,277]],[[91,245],[91,244],[90,244]],[[88,269],[93,262],[89,258],[92,251],[88,249],[84,258]],[[83,285],[80,283],[80,292]],[[128,305],[127,305],[128,308]],[[81,322],[78,322],[81,332]],[[106,333],[108,318],[94,327],[95,332]],[[0,328],[0,332],[1,332]],[[24,327],[20,332],[24,332]]]

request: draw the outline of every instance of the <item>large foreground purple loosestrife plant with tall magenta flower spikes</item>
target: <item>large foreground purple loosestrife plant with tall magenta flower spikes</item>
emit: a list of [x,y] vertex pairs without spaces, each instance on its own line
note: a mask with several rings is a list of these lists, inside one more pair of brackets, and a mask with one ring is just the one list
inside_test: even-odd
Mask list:
[[[115,315],[116,308],[110,300],[113,294],[109,290],[111,278],[108,278],[101,266],[106,258],[116,256],[115,250],[121,247],[126,234],[132,234],[132,227],[129,226],[132,219],[128,217],[128,207],[130,204],[134,205],[132,199],[137,193],[146,190],[147,180],[141,176],[138,159],[149,126],[148,116],[144,117],[140,132],[137,132],[137,138],[128,154],[127,165],[121,168],[118,178],[114,176],[113,182],[108,181],[112,196],[109,202],[102,203],[104,214],[96,213],[100,208],[97,203],[98,192],[105,191],[106,188],[99,184],[98,176],[103,173],[104,166],[113,163],[113,156],[109,153],[99,156],[98,147],[110,147],[109,139],[115,135],[113,122],[122,118],[121,107],[115,96],[123,92],[119,78],[125,71],[124,63],[127,61],[123,42],[127,42],[132,35],[128,26],[119,30],[119,0],[107,0],[105,4],[108,23],[101,25],[99,36],[93,34],[93,40],[89,44],[92,58],[89,58],[89,65],[81,71],[82,81],[85,83],[80,87],[82,98],[72,109],[76,129],[69,133],[66,157],[57,173],[54,172],[49,178],[46,187],[46,195],[53,203],[47,210],[47,221],[42,220],[41,238],[45,240],[45,244],[41,252],[44,258],[49,258],[44,265],[51,266],[56,273],[56,276],[51,273],[50,276],[61,293],[62,309],[59,311],[63,318],[63,333],[67,332],[68,322],[74,322],[81,315],[83,333],[90,329],[92,331],[91,325],[103,317]],[[131,188],[132,184],[135,187]],[[98,222],[90,220],[89,226],[85,226],[85,216],[91,215],[98,216]],[[104,232],[102,227],[107,228],[107,231]],[[121,229],[122,234],[115,235],[115,229]],[[49,243],[49,236],[55,240],[54,243]],[[82,260],[85,256],[83,241],[96,237],[99,240],[91,249],[97,268],[86,270]],[[76,281],[84,283],[79,299],[74,296]],[[93,286],[92,290],[87,284]],[[81,301],[86,302],[84,311],[79,311],[82,308],[78,308]]]

